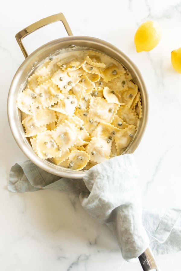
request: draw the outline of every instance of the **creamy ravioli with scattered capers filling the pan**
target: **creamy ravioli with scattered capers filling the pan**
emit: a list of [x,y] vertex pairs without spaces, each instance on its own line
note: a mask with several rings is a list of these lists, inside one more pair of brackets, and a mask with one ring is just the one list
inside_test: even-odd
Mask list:
[[45,59],[28,77],[17,107],[36,155],[77,171],[124,153],[142,117],[131,73],[88,48]]

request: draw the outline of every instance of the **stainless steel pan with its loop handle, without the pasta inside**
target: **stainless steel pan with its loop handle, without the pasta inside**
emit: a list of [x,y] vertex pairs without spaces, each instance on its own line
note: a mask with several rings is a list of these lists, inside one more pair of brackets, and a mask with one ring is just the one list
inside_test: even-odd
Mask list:
[[[38,28],[41,28],[47,24],[56,21],[62,21],[69,36],[50,41],[49,43],[46,43],[43,46],[39,47],[28,56],[27,51],[22,43],[22,39],[28,34],[37,30]],[[134,139],[129,144],[124,153],[133,153],[135,151],[141,141],[147,123],[148,96],[141,73],[138,70],[138,67],[136,67],[136,65],[132,62],[132,60],[129,59],[128,56],[126,56],[122,51],[120,51],[112,44],[98,38],[92,38],[87,36],[73,36],[69,25],[62,13],[49,16],[40,21],[37,21],[34,24],[31,24],[27,28],[24,28],[22,31],[17,33],[16,39],[26,59],[15,73],[9,89],[7,104],[8,121],[17,145],[34,164],[44,169],[45,171],[48,171],[49,173],[68,178],[83,178],[85,173],[87,172],[87,170],[75,171],[68,168],[63,168],[61,166],[53,164],[48,160],[40,159],[31,148],[28,139],[25,137],[24,128],[21,124],[21,112],[16,105],[18,93],[24,89],[27,78],[30,76],[33,70],[36,69],[40,62],[42,62],[46,57],[58,53],[63,48],[67,48],[67,50],[69,51],[75,51],[78,50],[78,48],[80,47],[88,47],[93,50],[101,51],[108,56],[118,60],[132,74],[133,80],[138,85],[141,93],[143,115],[139,129],[136,132]]]

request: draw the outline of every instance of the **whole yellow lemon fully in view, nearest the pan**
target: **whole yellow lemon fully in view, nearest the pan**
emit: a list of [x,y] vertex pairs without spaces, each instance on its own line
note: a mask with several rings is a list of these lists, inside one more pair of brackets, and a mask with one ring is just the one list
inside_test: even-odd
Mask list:
[[161,28],[155,21],[145,21],[135,33],[136,51],[150,51],[160,42]]

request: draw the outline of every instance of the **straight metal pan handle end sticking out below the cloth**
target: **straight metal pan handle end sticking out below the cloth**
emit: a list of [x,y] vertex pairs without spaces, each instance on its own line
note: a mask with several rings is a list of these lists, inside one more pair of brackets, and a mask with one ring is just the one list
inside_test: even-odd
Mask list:
[[156,264],[156,260],[151,251],[151,248],[148,247],[139,257],[138,257],[141,266],[144,271],[155,270],[160,271],[160,268]]

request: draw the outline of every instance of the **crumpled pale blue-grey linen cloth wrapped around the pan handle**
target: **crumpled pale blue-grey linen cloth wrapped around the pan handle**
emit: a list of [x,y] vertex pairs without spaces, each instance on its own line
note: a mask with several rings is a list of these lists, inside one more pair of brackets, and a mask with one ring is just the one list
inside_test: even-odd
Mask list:
[[83,179],[52,175],[32,162],[12,166],[8,190],[55,189],[79,196],[82,207],[117,237],[122,256],[130,260],[148,246],[154,255],[181,250],[181,210],[142,209],[132,154],[120,155],[90,168]]

